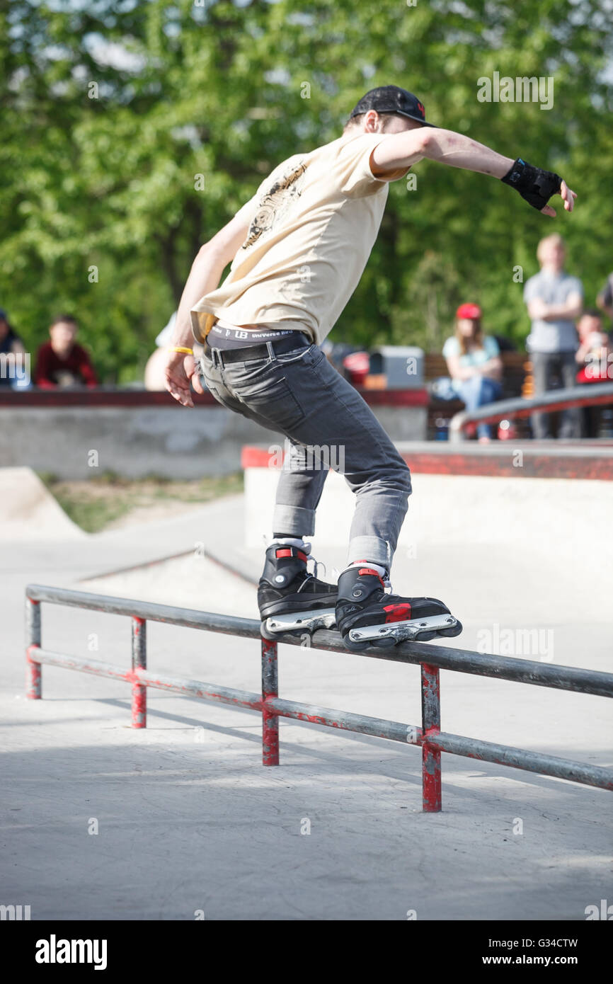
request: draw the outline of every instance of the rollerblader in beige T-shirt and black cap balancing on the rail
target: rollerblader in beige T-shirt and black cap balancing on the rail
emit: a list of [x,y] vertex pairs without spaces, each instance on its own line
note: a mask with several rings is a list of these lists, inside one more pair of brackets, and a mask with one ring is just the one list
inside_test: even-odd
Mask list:
[[[258,591],[267,636],[336,624],[345,646],[360,649],[461,632],[442,601],[391,593],[409,470],[320,348],[366,266],[390,182],[424,157],[498,178],[543,215],[556,215],[552,195],[573,211],[576,194],[559,175],[435,127],[415,95],[383,86],[359,100],[337,140],[276,166],[202,247],[183,291],[165,366],[168,392],[184,406],[193,405],[190,385],[204,392],[196,338],[215,400],[289,441]],[[331,466],[355,493],[337,585],[308,570],[304,539],[315,531]]]

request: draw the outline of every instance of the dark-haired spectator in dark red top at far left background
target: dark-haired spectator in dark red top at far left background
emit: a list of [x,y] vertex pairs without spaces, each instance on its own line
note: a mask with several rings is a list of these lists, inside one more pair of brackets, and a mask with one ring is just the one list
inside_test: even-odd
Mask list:
[[78,328],[76,318],[68,314],[60,315],[51,323],[51,340],[40,345],[36,356],[34,383],[42,390],[97,386],[90,356],[75,341]]

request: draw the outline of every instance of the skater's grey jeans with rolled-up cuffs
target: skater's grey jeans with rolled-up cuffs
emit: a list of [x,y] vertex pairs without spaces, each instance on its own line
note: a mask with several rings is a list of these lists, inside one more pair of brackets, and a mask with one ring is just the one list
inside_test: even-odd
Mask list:
[[347,563],[367,560],[390,569],[411,492],[410,474],[368,405],[312,344],[223,364],[209,346],[201,359],[219,403],[279,431],[289,441],[276,489],[273,531],[315,532],[315,511],[329,468],[355,493]]

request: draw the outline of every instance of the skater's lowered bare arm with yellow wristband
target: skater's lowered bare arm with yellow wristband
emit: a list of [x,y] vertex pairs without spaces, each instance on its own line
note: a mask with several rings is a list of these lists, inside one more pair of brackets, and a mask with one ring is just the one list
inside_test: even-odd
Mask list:
[[[252,214],[252,203],[247,202],[227,225],[219,229],[213,239],[200,248],[181,294],[177,319],[170,340],[171,346],[192,348],[194,337],[190,311],[201,297],[218,286],[221,274],[227,264],[233,260],[247,235]],[[194,377],[194,389],[198,393],[204,393],[198,381],[196,361],[192,355],[167,352],[163,375],[166,390],[183,406],[194,405],[190,389],[192,377]]]

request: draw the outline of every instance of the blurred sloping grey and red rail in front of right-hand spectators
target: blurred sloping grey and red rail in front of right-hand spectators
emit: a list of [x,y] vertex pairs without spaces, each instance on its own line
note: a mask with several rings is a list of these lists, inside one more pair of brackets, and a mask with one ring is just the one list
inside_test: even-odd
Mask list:
[[450,441],[466,440],[466,429],[476,424],[493,424],[499,420],[528,417],[535,410],[566,410],[573,406],[601,406],[613,403],[613,383],[589,383],[567,390],[550,390],[540,397],[514,397],[485,403],[476,410],[460,410],[449,425]]

